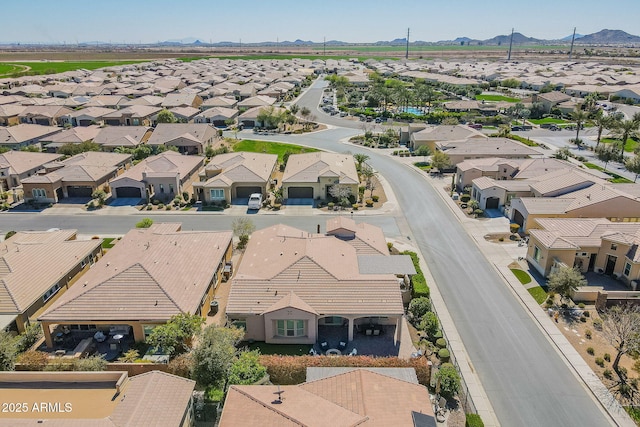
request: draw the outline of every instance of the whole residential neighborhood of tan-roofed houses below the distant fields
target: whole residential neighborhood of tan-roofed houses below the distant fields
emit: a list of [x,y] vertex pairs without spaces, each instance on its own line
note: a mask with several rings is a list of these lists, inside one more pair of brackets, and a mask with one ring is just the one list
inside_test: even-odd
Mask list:
[[518,425],[550,416],[514,401],[534,354],[582,425],[631,425],[637,349],[608,328],[640,319],[637,68],[0,79],[0,393],[74,408],[0,425]]

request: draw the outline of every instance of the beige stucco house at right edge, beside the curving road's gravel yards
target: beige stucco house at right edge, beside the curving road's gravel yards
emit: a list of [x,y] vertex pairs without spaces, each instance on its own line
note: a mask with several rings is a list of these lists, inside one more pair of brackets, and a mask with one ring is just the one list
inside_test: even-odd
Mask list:
[[537,218],[530,230],[527,260],[544,277],[560,266],[595,271],[640,283],[640,223],[605,218]]

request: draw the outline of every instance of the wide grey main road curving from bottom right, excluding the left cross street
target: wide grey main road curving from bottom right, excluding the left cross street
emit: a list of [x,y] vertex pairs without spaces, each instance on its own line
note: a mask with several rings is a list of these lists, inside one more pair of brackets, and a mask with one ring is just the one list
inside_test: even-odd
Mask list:
[[[298,103],[317,105],[324,85],[316,82]],[[318,118],[325,119],[319,114]],[[337,140],[325,140],[322,145],[313,140],[304,142],[345,151],[345,145]],[[393,188],[500,424],[609,425],[611,421],[599,404],[436,191],[417,172],[386,155],[355,146],[350,151],[369,155],[369,163]]]

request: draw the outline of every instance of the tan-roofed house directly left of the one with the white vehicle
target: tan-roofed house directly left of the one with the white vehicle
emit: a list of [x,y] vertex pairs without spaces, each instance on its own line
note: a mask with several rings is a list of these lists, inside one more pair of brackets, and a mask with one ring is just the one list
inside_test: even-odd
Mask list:
[[198,179],[203,164],[204,157],[165,151],[147,157],[113,178],[109,187],[114,198],[148,197],[149,200],[169,201],[183,192],[191,194],[193,181]]

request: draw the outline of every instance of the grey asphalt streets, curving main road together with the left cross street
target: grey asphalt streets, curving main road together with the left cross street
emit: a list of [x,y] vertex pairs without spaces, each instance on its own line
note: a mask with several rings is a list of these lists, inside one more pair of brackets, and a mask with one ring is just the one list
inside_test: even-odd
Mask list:
[[[298,103],[317,103],[323,84],[316,83]],[[324,116],[316,115],[325,121]],[[335,126],[345,122],[336,117],[330,119],[329,124]],[[402,211],[396,217],[371,215],[356,219],[366,219],[381,226],[388,237],[404,238],[417,244],[464,341],[472,369],[478,373],[501,425],[584,427],[611,424],[436,190],[418,172],[387,154],[340,142],[357,133],[357,129],[329,129],[300,136],[255,136],[255,139],[277,138],[339,152],[364,152],[371,157],[369,163],[389,181]],[[233,219],[210,214],[148,216],[158,221],[182,222],[184,229],[205,230],[229,228]],[[4,232],[58,227],[78,228],[83,233],[122,233],[140,218],[139,215],[9,213],[0,215],[0,229]],[[309,231],[314,231],[316,224],[324,225],[326,218],[322,215],[252,216],[257,227],[286,221]]]

